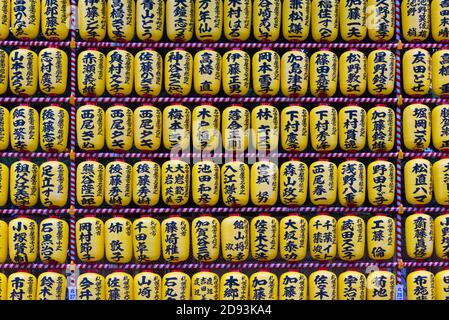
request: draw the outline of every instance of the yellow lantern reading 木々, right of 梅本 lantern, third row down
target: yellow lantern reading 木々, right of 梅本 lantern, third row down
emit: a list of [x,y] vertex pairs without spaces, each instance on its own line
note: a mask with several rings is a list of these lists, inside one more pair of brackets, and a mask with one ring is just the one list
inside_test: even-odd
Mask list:
[[[230,121],[226,119],[226,124]],[[213,151],[220,145],[220,110],[217,107],[204,104],[193,109],[192,145],[201,151]]]

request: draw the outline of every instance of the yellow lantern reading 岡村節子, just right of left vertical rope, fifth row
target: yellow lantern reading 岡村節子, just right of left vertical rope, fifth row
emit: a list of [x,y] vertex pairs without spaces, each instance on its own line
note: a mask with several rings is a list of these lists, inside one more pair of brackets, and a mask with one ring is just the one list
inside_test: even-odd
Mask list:
[[83,262],[103,260],[105,229],[102,220],[95,217],[81,218],[75,226],[76,252]]

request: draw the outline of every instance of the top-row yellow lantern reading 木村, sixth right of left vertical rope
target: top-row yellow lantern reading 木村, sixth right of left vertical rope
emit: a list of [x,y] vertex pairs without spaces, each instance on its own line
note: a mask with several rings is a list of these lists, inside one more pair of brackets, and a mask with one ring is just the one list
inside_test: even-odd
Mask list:
[[223,31],[230,41],[246,41],[251,34],[252,1],[223,1]]

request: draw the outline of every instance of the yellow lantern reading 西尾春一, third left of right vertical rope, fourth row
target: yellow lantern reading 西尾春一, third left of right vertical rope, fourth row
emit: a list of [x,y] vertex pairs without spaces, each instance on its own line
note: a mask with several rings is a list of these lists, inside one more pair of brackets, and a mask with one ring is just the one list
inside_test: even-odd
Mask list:
[[314,205],[332,205],[337,200],[337,166],[327,160],[309,166],[309,197]]

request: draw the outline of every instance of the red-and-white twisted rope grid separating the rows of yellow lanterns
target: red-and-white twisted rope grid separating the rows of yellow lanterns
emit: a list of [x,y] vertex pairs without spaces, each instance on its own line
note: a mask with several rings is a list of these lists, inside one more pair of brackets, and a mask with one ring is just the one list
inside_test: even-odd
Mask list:
[[[29,264],[15,264],[15,263],[4,263],[0,265],[2,269],[11,269],[11,270],[47,270],[47,269],[55,269],[67,271],[67,275],[74,275],[75,271],[78,269],[80,272],[87,271],[98,271],[103,273],[102,270],[116,270],[123,269],[124,271],[130,271],[132,274],[132,270],[179,270],[184,269],[189,274],[192,273],[193,270],[199,269],[210,269],[214,271],[220,270],[220,274],[223,270],[234,270],[239,269],[244,272],[246,269],[253,272],[257,269],[299,269],[302,272],[303,269],[310,269],[307,273],[310,273],[314,269],[318,268],[329,268],[330,270],[336,271],[338,275],[341,271],[344,271],[345,268],[357,268],[360,270],[366,269],[368,267],[377,266],[379,268],[388,268],[396,273],[397,275],[397,289],[400,290],[402,288],[402,269],[405,268],[416,268],[416,267],[425,267],[425,268],[440,268],[440,267],[449,267],[449,262],[447,261],[413,261],[410,259],[403,258],[403,218],[408,214],[413,212],[425,212],[429,214],[440,214],[443,212],[447,212],[448,209],[445,207],[436,207],[436,206],[426,206],[426,207],[416,207],[410,206],[405,201],[403,201],[403,189],[402,189],[402,169],[403,164],[408,160],[414,157],[425,157],[430,159],[438,159],[442,156],[445,156],[444,153],[441,152],[408,152],[402,147],[402,109],[403,106],[407,106],[412,103],[424,103],[429,105],[439,105],[446,103],[444,98],[412,98],[402,95],[401,89],[401,55],[402,52],[406,49],[411,49],[415,47],[425,48],[428,50],[431,49],[443,49],[447,48],[447,45],[444,43],[402,43],[401,41],[401,26],[400,26],[400,1],[396,0],[396,26],[395,26],[395,41],[389,43],[262,43],[262,42],[242,42],[242,43],[221,43],[221,42],[212,42],[212,43],[199,43],[199,42],[186,42],[186,43],[174,43],[174,42],[155,42],[155,43],[144,43],[144,42],[130,42],[130,43],[116,43],[116,42],[84,42],[80,41],[77,36],[77,32],[75,30],[75,19],[76,16],[72,14],[71,24],[72,28],[70,31],[70,41],[64,42],[51,42],[51,41],[19,41],[19,40],[3,40],[0,41],[0,45],[6,48],[16,48],[21,46],[32,47],[33,49],[42,49],[48,47],[49,45],[54,46],[65,50],[69,55],[69,66],[70,66],[70,76],[68,78],[68,89],[67,93],[64,96],[58,97],[0,97],[0,103],[6,106],[14,107],[21,103],[30,104],[34,106],[35,104],[39,104],[39,107],[36,107],[39,110],[40,106],[44,106],[46,104],[58,104],[64,106],[70,114],[70,129],[69,129],[69,149],[66,152],[62,153],[46,153],[46,152],[0,152],[0,157],[10,158],[14,160],[19,159],[31,159],[34,161],[35,159],[38,161],[44,161],[45,159],[60,159],[60,161],[67,161],[69,163],[69,176],[70,176],[70,187],[69,187],[69,201],[64,208],[1,208],[0,214],[4,216],[15,217],[16,215],[30,215],[33,219],[39,221],[42,216],[51,216],[57,215],[64,219],[67,219],[70,227],[70,239],[69,239],[69,254],[67,263],[65,264],[44,264],[44,263],[29,263]],[[71,0],[71,8],[72,11],[77,8],[77,1]],[[83,97],[79,94],[77,89],[77,69],[76,69],[76,60],[77,55],[88,48],[98,48],[102,50],[104,53],[112,50],[114,48],[126,48],[126,50],[131,51],[133,54],[139,50],[151,47],[157,51],[161,50],[162,52],[167,52],[168,50],[172,50],[175,48],[185,49],[192,54],[199,49],[204,48],[212,48],[217,49],[218,51],[229,50],[230,48],[240,48],[242,50],[249,50],[253,52],[255,49],[264,49],[271,48],[275,51],[285,52],[290,49],[310,49],[311,52],[314,52],[323,47],[329,48],[330,50],[335,50],[343,52],[348,49],[358,49],[362,52],[369,53],[375,49],[389,49],[395,52],[396,56],[396,81],[395,81],[395,90],[394,94],[386,98],[378,98],[378,97],[329,97],[329,98],[321,98],[321,97],[256,97],[256,96],[246,96],[246,97],[227,97],[227,96],[213,96],[213,97],[201,97],[201,96],[186,96],[186,97],[170,97],[170,96],[160,96],[153,98],[146,97]],[[220,51],[221,52],[221,51]],[[281,54],[280,54],[281,55]],[[305,207],[286,207],[281,205],[276,205],[272,207],[242,207],[242,208],[229,208],[229,207],[212,207],[212,208],[200,208],[194,206],[182,207],[182,208],[171,208],[171,207],[150,207],[150,208],[139,208],[131,205],[130,207],[122,207],[122,208],[111,208],[110,206],[102,206],[99,208],[85,208],[81,207],[77,204],[76,201],[76,166],[77,164],[85,159],[98,159],[99,161],[105,161],[107,163],[114,159],[125,159],[125,161],[135,162],[138,159],[148,158],[154,159],[155,161],[161,163],[159,160],[169,160],[170,153],[169,152],[151,152],[151,153],[143,153],[139,151],[132,151],[126,153],[118,153],[108,151],[106,147],[100,152],[84,152],[80,150],[77,146],[76,141],[76,130],[75,130],[75,119],[76,119],[76,108],[87,104],[97,104],[101,105],[103,108],[106,108],[115,103],[123,103],[124,105],[130,106],[131,109],[135,109],[135,107],[141,104],[153,104],[157,107],[166,107],[170,104],[174,103],[182,103],[184,105],[188,105],[191,109],[192,106],[196,106],[204,103],[211,104],[219,104],[220,106],[229,106],[232,103],[240,103],[246,106],[246,104],[251,104],[252,106],[256,106],[260,103],[269,103],[271,105],[277,106],[282,104],[283,106],[287,106],[288,104],[298,103],[305,106],[308,111],[318,104],[329,104],[335,105],[337,108],[342,107],[348,103],[354,103],[361,107],[364,107],[365,110],[368,110],[370,107],[375,104],[386,104],[389,107],[394,107],[395,111],[395,147],[391,152],[329,152],[329,153],[320,153],[313,152],[311,150],[307,150],[305,152],[300,153],[289,153],[289,152],[275,152],[270,154],[270,156],[274,158],[279,158],[285,160],[289,159],[303,159],[303,161],[315,161],[318,159],[333,159],[333,161],[339,163],[346,158],[356,158],[360,161],[364,162],[364,160],[369,161],[375,160],[377,158],[388,159],[390,161],[394,161],[396,165],[396,195],[395,195],[395,203],[392,206],[388,207],[372,207],[372,206],[361,206],[358,208],[347,208],[343,206],[329,206],[329,207],[316,207],[316,206],[305,206]],[[219,107],[221,110],[222,108]],[[338,109],[337,109],[338,110]],[[309,148],[310,149],[310,148]],[[338,148],[337,148],[338,149]],[[223,158],[229,156],[229,153],[223,151],[223,153],[215,153],[211,157],[212,158]],[[245,152],[243,154],[237,155],[237,159],[255,159],[258,156],[256,152]],[[183,153],[183,157],[189,159],[198,159],[201,157],[201,154],[193,151],[192,153],[187,152]],[[279,161],[281,163],[282,161]],[[308,162],[310,163],[310,162]],[[190,163],[193,165],[193,163]],[[161,201],[160,201],[161,202]],[[338,202],[338,201],[337,201]],[[278,202],[279,203],[279,202]],[[366,203],[366,202],[365,202]],[[307,258],[305,261],[301,262],[287,262],[282,261],[280,259],[275,259],[273,262],[257,262],[249,259],[247,262],[239,262],[239,263],[230,263],[219,258],[217,262],[213,263],[201,263],[193,260],[192,257],[189,258],[186,262],[181,262],[177,264],[170,264],[166,262],[156,262],[151,264],[137,264],[137,263],[127,263],[127,264],[112,264],[112,263],[82,263],[78,260],[75,248],[75,223],[76,220],[83,217],[86,214],[95,214],[101,217],[103,220],[111,217],[111,215],[124,215],[125,217],[136,218],[141,214],[152,214],[157,217],[159,220],[162,220],[168,215],[181,215],[187,217],[189,220],[192,216],[196,216],[200,213],[204,212],[210,213],[212,216],[223,218],[231,213],[240,213],[243,216],[250,219],[253,216],[256,216],[260,213],[270,213],[273,216],[280,219],[288,213],[305,213],[306,216],[312,217],[314,214],[323,212],[329,213],[331,215],[335,215],[336,217],[340,217],[345,213],[361,213],[362,216],[369,217],[375,213],[386,213],[388,216],[395,217],[396,220],[396,248],[394,259],[389,261],[373,261],[363,259],[362,261],[357,262],[344,262],[344,261],[310,261]],[[9,219],[8,219],[9,220]],[[133,220],[133,219],[131,219]],[[162,259],[161,259],[162,260]],[[337,271],[338,270],[338,271]],[[74,281],[74,277],[71,277],[71,280]],[[68,286],[74,286],[75,283],[67,283]]]

